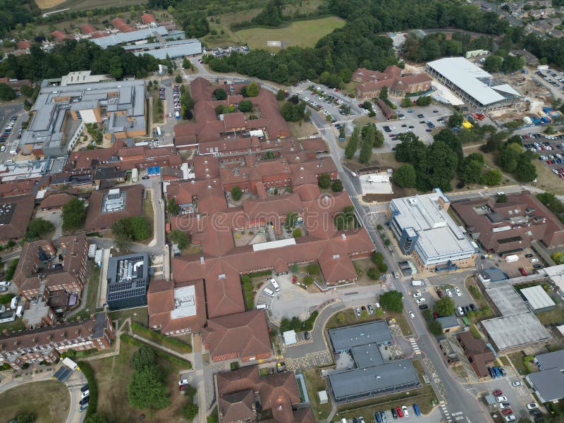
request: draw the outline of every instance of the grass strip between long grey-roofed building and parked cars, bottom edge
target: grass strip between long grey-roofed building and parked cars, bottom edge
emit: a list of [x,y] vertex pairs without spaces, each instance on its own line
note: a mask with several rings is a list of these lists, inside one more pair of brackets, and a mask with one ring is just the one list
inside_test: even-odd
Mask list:
[[401,407],[402,405],[406,405],[409,408],[410,415],[415,415],[411,407],[412,404],[417,404],[422,414],[427,414],[431,411],[433,407],[431,403],[433,402],[437,402],[433,388],[431,388],[431,386],[423,386],[422,388],[411,389],[410,391],[392,393],[390,395],[337,407],[338,412],[334,419],[338,421],[343,417],[353,419],[353,417],[362,416],[367,422],[373,422],[375,411],[385,410],[389,418],[391,417],[390,409],[392,407]]

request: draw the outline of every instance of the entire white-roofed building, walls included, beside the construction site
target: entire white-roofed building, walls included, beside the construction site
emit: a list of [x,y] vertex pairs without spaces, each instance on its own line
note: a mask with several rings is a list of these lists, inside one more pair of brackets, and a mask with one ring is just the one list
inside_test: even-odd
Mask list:
[[502,109],[523,99],[509,84],[496,81],[484,69],[463,57],[431,61],[425,71],[478,111]]

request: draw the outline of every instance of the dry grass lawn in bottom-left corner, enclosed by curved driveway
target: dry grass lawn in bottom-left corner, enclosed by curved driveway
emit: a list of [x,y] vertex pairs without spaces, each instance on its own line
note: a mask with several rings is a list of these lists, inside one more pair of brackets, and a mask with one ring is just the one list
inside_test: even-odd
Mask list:
[[59,423],[66,419],[70,402],[65,384],[53,380],[32,382],[2,393],[0,415],[2,422],[25,413],[34,415],[36,423]]

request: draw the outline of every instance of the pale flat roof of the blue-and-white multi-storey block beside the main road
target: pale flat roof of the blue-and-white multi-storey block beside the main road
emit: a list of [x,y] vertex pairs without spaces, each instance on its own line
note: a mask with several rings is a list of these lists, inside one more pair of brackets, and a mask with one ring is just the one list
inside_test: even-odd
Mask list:
[[414,228],[417,231],[417,243],[429,258],[474,252],[470,240],[439,204],[439,197],[445,203],[450,202],[438,188],[430,194],[394,198],[391,206],[398,211],[394,219],[402,229]]

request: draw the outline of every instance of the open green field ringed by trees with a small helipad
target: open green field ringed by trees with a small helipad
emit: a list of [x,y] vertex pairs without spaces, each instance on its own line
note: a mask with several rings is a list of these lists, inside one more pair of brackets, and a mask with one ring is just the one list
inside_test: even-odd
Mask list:
[[281,41],[284,45],[290,46],[314,47],[321,37],[344,25],[344,20],[331,16],[323,19],[300,20],[276,30],[250,28],[237,31],[235,34],[252,49],[265,49],[267,41]]

